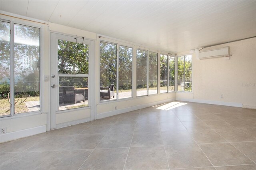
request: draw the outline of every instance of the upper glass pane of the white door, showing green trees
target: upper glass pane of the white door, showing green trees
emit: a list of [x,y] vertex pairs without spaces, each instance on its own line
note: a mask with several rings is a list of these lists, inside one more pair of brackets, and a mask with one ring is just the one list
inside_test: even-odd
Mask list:
[[58,40],[58,73],[88,74],[89,45]]

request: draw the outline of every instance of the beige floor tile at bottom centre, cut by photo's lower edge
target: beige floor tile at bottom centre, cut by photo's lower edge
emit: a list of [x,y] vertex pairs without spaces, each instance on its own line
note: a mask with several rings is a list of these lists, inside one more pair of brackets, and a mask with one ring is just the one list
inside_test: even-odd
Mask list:
[[124,169],[168,169],[164,146],[131,147]]

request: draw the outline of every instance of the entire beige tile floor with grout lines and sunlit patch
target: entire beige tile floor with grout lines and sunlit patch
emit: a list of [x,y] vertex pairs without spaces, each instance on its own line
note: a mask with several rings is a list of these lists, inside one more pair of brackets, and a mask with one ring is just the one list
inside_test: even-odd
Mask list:
[[0,144],[1,170],[255,170],[256,111],[172,102]]

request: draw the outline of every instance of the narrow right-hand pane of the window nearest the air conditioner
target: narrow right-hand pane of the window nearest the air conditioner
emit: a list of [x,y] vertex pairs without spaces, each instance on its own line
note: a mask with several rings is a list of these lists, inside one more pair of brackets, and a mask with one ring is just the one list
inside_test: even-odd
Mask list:
[[192,55],[185,55],[185,91],[192,91]]

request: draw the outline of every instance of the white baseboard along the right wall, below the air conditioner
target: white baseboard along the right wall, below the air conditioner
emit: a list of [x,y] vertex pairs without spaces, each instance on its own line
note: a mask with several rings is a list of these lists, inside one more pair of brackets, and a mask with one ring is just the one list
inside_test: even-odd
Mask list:
[[242,103],[232,103],[232,102],[224,102],[224,101],[210,101],[210,100],[184,99],[184,98],[176,98],[176,100],[177,101],[195,102],[195,103],[206,103],[206,104],[212,104],[212,105],[243,107]]

